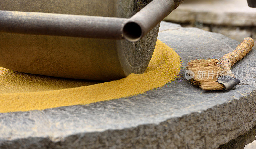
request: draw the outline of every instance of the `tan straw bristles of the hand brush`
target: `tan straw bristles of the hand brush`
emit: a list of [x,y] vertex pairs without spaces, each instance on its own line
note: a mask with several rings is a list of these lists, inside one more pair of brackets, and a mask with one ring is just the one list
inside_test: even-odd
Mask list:
[[225,87],[219,84],[218,77],[225,74],[225,71],[218,66],[218,59],[193,60],[188,63],[187,69],[194,72],[190,80],[203,90],[224,90]]

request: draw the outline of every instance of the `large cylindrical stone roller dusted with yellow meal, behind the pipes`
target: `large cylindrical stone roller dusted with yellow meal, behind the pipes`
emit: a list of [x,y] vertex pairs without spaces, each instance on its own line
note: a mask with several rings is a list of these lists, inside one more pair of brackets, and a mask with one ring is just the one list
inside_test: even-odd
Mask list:
[[[151,1],[1,0],[0,10],[130,18]],[[159,25],[156,25],[135,43],[0,32],[0,50],[4,55],[0,66],[54,77],[103,81],[121,79],[131,73],[145,72],[154,52],[158,29]],[[14,55],[19,57],[14,59]]]

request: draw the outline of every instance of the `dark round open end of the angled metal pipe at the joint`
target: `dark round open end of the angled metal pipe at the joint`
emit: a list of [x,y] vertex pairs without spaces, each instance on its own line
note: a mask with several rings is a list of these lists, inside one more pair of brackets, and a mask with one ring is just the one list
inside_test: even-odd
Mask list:
[[123,28],[124,39],[130,42],[139,41],[142,37],[142,29],[139,24],[135,22],[128,22]]

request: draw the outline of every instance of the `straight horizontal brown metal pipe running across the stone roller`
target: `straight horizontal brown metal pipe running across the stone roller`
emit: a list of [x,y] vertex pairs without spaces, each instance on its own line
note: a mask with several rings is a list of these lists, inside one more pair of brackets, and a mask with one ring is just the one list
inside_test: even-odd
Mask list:
[[0,11],[0,31],[86,38],[122,39],[125,18]]

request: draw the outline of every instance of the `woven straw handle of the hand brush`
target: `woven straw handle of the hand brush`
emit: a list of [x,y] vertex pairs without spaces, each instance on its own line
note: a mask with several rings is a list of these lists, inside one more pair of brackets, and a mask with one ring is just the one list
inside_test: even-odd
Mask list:
[[225,54],[219,59],[219,66],[224,69],[226,75],[235,77],[230,70],[231,66],[233,66],[237,61],[241,60],[247,53],[249,53],[253,46],[254,40],[252,38],[244,38],[244,41],[242,41],[235,50]]

